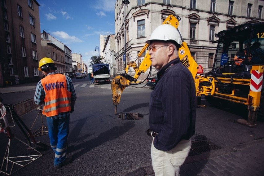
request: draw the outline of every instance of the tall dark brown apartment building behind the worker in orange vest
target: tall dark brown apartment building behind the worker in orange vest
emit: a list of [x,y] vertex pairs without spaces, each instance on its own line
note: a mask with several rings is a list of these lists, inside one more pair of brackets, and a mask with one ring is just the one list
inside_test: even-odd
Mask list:
[[38,81],[40,5],[36,0],[0,2],[0,86]]

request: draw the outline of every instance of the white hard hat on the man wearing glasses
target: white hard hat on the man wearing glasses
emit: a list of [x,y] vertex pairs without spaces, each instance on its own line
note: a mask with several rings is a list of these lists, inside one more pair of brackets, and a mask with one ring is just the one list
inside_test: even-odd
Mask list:
[[182,44],[182,39],[179,31],[170,24],[162,24],[158,26],[151,34],[150,39],[146,41],[150,45],[152,40],[173,40],[178,44]]

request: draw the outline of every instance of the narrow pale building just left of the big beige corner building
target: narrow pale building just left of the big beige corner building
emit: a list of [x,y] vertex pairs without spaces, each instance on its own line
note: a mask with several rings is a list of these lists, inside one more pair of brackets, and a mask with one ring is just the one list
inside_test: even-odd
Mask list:
[[108,35],[103,47],[103,58],[104,63],[109,64],[111,77],[116,75],[115,47],[115,35]]

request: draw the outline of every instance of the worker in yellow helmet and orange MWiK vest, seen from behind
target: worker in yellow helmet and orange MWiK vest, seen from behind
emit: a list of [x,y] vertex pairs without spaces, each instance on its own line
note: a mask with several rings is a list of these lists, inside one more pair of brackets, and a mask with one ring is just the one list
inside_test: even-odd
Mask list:
[[71,78],[59,74],[51,58],[42,58],[38,69],[45,77],[37,83],[34,102],[44,103],[42,113],[47,117],[51,148],[55,152],[54,168],[58,169],[72,161],[72,157],[66,158],[66,152],[76,94]]

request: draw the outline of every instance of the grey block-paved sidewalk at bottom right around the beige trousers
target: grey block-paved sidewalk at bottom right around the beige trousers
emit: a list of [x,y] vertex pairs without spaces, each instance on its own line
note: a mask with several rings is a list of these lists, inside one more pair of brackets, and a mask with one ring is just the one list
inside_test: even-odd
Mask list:
[[[181,167],[181,176],[263,176],[264,139],[235,147],[212,150],[188,156]],[[152,166],[139,168],[126,176],[155,176]]]

